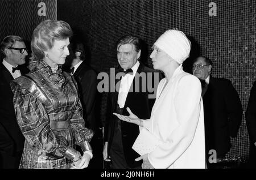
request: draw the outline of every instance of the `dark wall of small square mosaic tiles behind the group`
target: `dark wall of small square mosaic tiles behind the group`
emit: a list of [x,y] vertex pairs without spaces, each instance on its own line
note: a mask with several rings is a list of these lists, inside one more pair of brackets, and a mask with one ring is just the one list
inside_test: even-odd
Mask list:
[[[201,52],[212,59],[213,76],[232,80],[240,95],[242,125],[238,137],[232,139],[233,148],[228,156],[246,159],[249,137],[244,112],[256,78],[255,12],[254,0],[61,0],[57,19],[83,29],[81,34],[87,37],[90,46],[90,65],[98,72],[108,73],[110,67],[117,66],[115,41],[122,35],[133,34],[146,42],[145,63],[152,67],[149,54],[154,41],[169,28],[183,31],[196,44],[192,55]],[[102,95],[98,107],[102,122],[105,97]]]

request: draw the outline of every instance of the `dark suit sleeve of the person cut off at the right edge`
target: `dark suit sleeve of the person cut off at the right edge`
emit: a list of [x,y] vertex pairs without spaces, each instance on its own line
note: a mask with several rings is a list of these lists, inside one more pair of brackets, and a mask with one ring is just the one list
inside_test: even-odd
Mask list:
[[256,82],[251,88],[250,98],[245,113],[247,130],[252,143],[256,142]]

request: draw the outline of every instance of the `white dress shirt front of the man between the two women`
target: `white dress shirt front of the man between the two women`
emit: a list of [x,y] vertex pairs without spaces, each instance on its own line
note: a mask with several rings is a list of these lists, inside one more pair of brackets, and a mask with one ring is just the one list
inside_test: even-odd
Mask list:
[[137,61],[137,63],[135,63],[135,65],[131,68],[133,70],[133,75],[127,73],[121,79],[119,93],[118,93],[118,100],[117,100],[117,104],[119,105],[120,108],[123,108],[125,106],[126,97],[131,87],[131,83],[133,83],[133,79],[138,70],[138,67],[139,67],[139,61]]

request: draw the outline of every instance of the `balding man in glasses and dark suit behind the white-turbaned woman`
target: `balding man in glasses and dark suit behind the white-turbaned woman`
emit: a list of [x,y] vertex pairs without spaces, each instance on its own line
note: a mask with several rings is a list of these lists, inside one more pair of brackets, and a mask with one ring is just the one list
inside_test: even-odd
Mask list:
[[230,137],[237,136],[242,120],[242,105],[230,80],[213,78],[211,72],[210,59],[195,59],[193,75],[202,84],[207,164],[208,168],[218,168],[214,162],[220,162],[225,157],[231,148]]

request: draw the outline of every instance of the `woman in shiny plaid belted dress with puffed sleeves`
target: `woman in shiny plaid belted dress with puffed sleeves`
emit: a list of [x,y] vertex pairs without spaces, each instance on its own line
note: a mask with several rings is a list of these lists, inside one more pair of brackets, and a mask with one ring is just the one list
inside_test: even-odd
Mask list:
[[92,158],[93,131],[85,128],[77,84],[61,71],[71,35],[63,21],[40,23],[32,34],[31,72],[11,83],[16,118],[26,138],[19,168],[86,168]]

